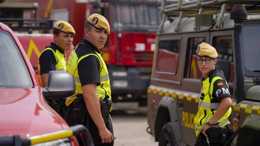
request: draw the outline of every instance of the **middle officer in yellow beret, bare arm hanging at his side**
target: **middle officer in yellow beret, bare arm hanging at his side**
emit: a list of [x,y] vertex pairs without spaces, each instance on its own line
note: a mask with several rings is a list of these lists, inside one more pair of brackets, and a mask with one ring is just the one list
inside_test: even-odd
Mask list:
[[[83,124],[89,129],[95,145],[113,145],[113,126],[109,112],[104,116],[100,99],[111,101],[111,90],[102,52],[110,26],[105,17],[92,14],[85,22],[85,39],[72,50],[67,71],[74,77],[76,94],[67,98],[66,122],[72,126]],[[78,112],[80,111],[80,112]],[[88,116],[90,115],[90,116]]]

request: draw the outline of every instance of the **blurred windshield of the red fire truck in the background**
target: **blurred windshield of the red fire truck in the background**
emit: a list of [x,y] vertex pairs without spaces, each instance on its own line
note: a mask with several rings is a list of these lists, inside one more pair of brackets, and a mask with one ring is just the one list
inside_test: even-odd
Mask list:
[[157,32],[162,14],[154,4],[111,3],[113,31]]

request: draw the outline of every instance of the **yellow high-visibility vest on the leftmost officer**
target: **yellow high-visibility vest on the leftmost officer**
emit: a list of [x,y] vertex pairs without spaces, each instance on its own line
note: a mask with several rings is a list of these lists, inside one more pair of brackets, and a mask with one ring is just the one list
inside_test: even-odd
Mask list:
[[[51,50],[55,56],[55,59],[56,59],[56,65],[55,65],[55,68],[56,70],[58,71],[64,71],[66,72],[66,55],[59,52],[58,50],[54,51],[52,48],[45,48],[41,54],[46,51],[46,50]],[[41,56],[40,54],[40,56]],[[40,62],[38,61],[38,74],[39,74],[39,81],[40,81],[40,85],[42,86],[42,83],[41,83],[41,66],[40,66]]]

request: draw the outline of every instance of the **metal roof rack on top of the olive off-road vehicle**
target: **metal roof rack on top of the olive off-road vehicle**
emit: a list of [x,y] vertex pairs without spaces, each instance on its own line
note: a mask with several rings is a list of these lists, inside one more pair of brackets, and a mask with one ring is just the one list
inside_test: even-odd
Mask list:
[[[246,3],[246,4],[245,4]],[[235,4],[244,4],[246,7],[256,7],[259,9],[260,0],[162,0],[161,7],[158,9],[163,13],[163,19],[158,33],[162,33],[166,17],[178,17],[178,23],[175,31],[179,31],[180,23],[183,17],[194,17],[196,14],[216,14],[219,17],[216,20],[216,28],[221,27],[226,11],[231,11]],[[219,11],[219,8],[221,10]],[[194,26],[194,30],[198,27]]]

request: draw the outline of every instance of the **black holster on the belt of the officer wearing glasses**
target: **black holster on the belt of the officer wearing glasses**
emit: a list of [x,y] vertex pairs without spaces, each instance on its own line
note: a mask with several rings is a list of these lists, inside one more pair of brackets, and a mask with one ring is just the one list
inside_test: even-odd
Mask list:
[[209,137],[210,143],[225,145],[228,135],[228,130],[226,127],[211,127],[206,131]]

